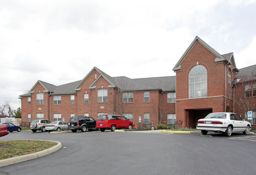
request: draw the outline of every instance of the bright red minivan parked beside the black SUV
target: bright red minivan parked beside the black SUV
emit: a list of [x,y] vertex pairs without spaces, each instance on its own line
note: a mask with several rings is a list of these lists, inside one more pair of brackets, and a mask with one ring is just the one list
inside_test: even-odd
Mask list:
[[134,123],[125,116],[115,114],[100,115],[96,122],[96,128],[100,129],[102,132],[106,129],[110,129],[111,131],[115,131],[116,128],[132,129],[134,126]]

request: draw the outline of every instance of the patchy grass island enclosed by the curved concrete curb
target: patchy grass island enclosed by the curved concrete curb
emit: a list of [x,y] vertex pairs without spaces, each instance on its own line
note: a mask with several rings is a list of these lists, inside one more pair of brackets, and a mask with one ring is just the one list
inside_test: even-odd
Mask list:
[[1,140],[0,160],[36,153],[57,145],[43,140]]

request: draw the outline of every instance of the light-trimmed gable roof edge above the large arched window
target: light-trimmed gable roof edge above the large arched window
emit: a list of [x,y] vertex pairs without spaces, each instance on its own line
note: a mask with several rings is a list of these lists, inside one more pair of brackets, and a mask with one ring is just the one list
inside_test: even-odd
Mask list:
[[197,42],[200,42],[200,44],[202,44],[205,48],[210,50],[210,52],[213,53],[216,56],[215,63],[222,63],[223,62],[223,63],[228,64],[228,65],[232,64],[230,62],[230,60],[226,59],[223,55],[219,54],[216,50],[211,48],[211,46],[206,44],[206,42],[202,41],[202,39],[200,39],[198,36],[196,36],[195,39],[193,40],[193,42],[191,42],[191,44],[187,48],[186,52],[182,55],[182,57],[180,58],[178,63],[174,66],[174,68],[173,68],[174,72],[177,72],[177,71],[181,70],[181,63],[184,61],[184,59],[186,58],[188,53],[191,51],[191,49],[195,46],[195,44]]

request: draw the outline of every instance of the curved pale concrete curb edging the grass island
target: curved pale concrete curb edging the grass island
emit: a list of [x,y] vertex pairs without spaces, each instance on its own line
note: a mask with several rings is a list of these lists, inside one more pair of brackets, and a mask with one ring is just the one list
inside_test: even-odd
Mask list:
[[12,157],[12,158],[0,160],[0,167],[11,165],[11,164],[17,164],[19,162],[24,162],[24,161],[31,160],[34,158],[43,157],[45,155],[49,155],[50,153],[58,151],[62,147],[61,142],[57,142],[57,141],[53,141],[53,140],[43,140],[43,141],[55,142],[55,143],[57,143],[57,145],[50,147],[48,149],[45,149],[43,151],[39,151],[37,153],[32,153],[32,154],[28,154],[28,155],[19,156],[19,157]]

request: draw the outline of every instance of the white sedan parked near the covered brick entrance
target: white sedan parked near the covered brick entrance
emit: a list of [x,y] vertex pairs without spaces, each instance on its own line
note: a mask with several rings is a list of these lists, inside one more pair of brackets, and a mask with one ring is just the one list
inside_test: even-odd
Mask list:
[[249,134],[251,123],[241,119],[235,113],[216,112],[208,114],[204,119],[198,120],[197,129],[206,135],[208,131],[215,133],[224,133],[225,136],[231,136],[232,132],[243,132]]

